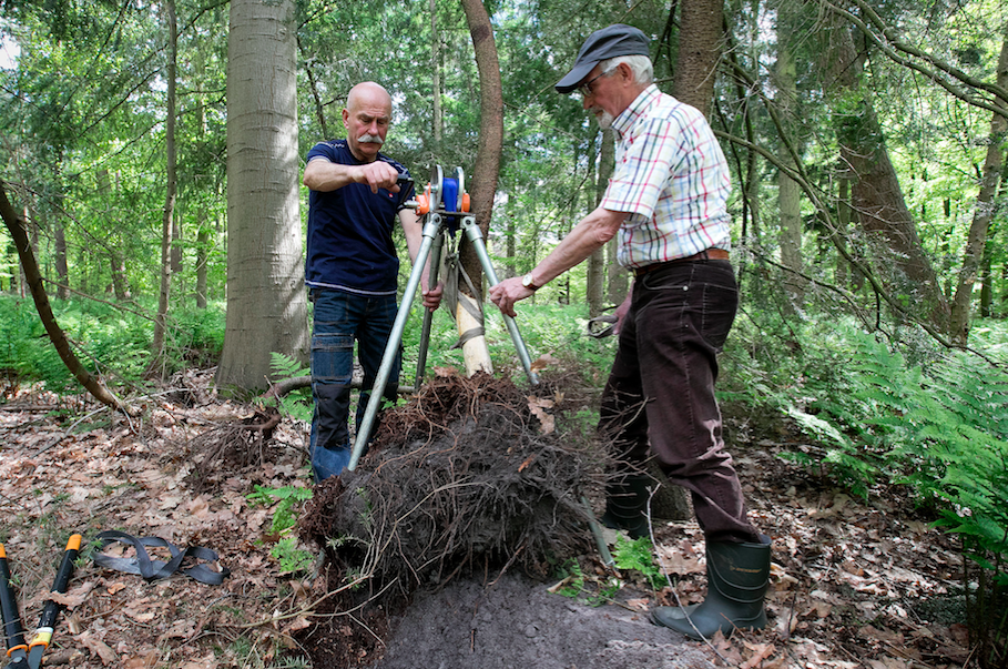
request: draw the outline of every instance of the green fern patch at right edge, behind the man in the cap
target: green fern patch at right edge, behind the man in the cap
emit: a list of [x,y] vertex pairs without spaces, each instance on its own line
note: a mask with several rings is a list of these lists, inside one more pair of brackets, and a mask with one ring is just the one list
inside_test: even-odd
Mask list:
[[730,363],[734,392],[747,392],[740,377],[773,388],[750,399],[786,415],[821,445],[795,459],[823,467],[861,496],[876,483],[903,484],[936,526],[961,540],[970,631],[981,663],[998,663],[1008,649],[1004,344],[981,359],[842,321],[803,325],[790,330],[797,335],[790,358],[764,357],[743,337],[732,355],[744,364]]

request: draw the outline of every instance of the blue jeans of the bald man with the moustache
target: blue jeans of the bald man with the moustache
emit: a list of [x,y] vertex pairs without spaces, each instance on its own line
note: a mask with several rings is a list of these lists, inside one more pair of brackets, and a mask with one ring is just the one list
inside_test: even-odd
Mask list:
[[[357,398],[357,427],[381,366],[388,336],[396,321],[395,295],[356,295],[343,291],[313,288],[315,324],[312,331],[312,438],[308,452],[312,473],[318,483],[338,475],[350,462],[350,382],[354,376],[354,342],[364,367],[364,385]],[[385,387],[385,398],[396,401],[401,352]],[[377,426],[377,422],[375,423]]]

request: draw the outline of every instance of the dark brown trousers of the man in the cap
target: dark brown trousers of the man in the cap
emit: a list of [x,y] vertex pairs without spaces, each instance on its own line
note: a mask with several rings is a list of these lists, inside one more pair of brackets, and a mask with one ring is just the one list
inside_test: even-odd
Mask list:
[[692,493],[707,540],[758,543],[714,396],[737,305],[729,261],[669,263],[638,278],[599,429],[631,464],[640,466],[650,447],[669,480]]

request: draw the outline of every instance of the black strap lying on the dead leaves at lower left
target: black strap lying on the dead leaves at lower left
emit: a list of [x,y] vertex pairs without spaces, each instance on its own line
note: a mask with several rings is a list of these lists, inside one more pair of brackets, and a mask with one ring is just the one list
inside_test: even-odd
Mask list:
[[[161,537],[136,538],[116,529],[105,530],[95,538],[100,543],[98,549],[93,554],[95,565],[105,567],[106,569],[124,571],[126,574],[138,574],[147,582],[167,578],[176,571],[182,571],[182,574],[196,579],[201,584],[220,586],[231,574],[231,570],[225,569],[224,567],[221,567],[220,571],[214,571],[206,564],[183,567],[182,562],[186,558],[203,560],[204,562],[217,561],[216,551],[211,550],[210,548],[203,548],[202,546],[190,546],[185,550],[180,550],[177,546]],[[118,558],[102,553],[109,544],[116,541],[132,546],[136,555],[128,558]],[[172,555],[172,559],[166,562],[163,560],[152,560],[151,556],[147,555],[146,546],[152,548],[167,548],[169,553]]]

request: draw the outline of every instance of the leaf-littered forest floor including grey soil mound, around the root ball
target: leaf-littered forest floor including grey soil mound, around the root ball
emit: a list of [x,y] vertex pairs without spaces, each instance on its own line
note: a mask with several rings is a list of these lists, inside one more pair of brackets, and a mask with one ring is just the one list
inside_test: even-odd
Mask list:
[[[111,416],[85,399],[31,388],[0,393],[0,540],[33,630],[68,537],[101,530],[202,546],[227,568],[222,585],[175,575],[139,576],[79,560],[68,611],[45,655],[50,667],[323,667],[395,669],[627,669],[671,667],[964,667],[969,648],[951,541],[918,516],[898,488],[852,498],[828,478],[781,459],[815,445],[778,419],[725,418],[751,517],[773,539],[765,630],[692,642],[648,621],[670,604],[632,574],[613,601],[551,594],[496,570],[417,594],[384,619],[330,611],[326,579],[284,574],[271,548],[276,506],[255,504],[256,486],[310,487],[303,423],[283,419],[263,435],[242,426],[251,405],[218,399],[210,373],[179,378],[146,401],[143,420]],[[268,438],[264,438],[267,436]],[[242,440],[235,458],[220,446]],[[212,484],[212,485],[210,485]],[[252,497],[250,497],[252,496]],[[684,601],[702,599],[703,541],[693,523],[658,524],[656,551]],[[611,538],[611,537],[610,537]],[[305,546],[315,549],[312,546]],[[112,544],[105,553],[124,548]],[[129,551],[128,551],[129,554]],[[594,555],[586,578],[601,581]],[[559,577],[558,577],[559,578]],[[407,606],[408,605],[408,606]],[[332,607],[329,607],[332,609]],[[319,639],[313,629],[327,626]],[[369,635],[353,662],[333,648]],[[307,647],[306,638],[314,638]]]

